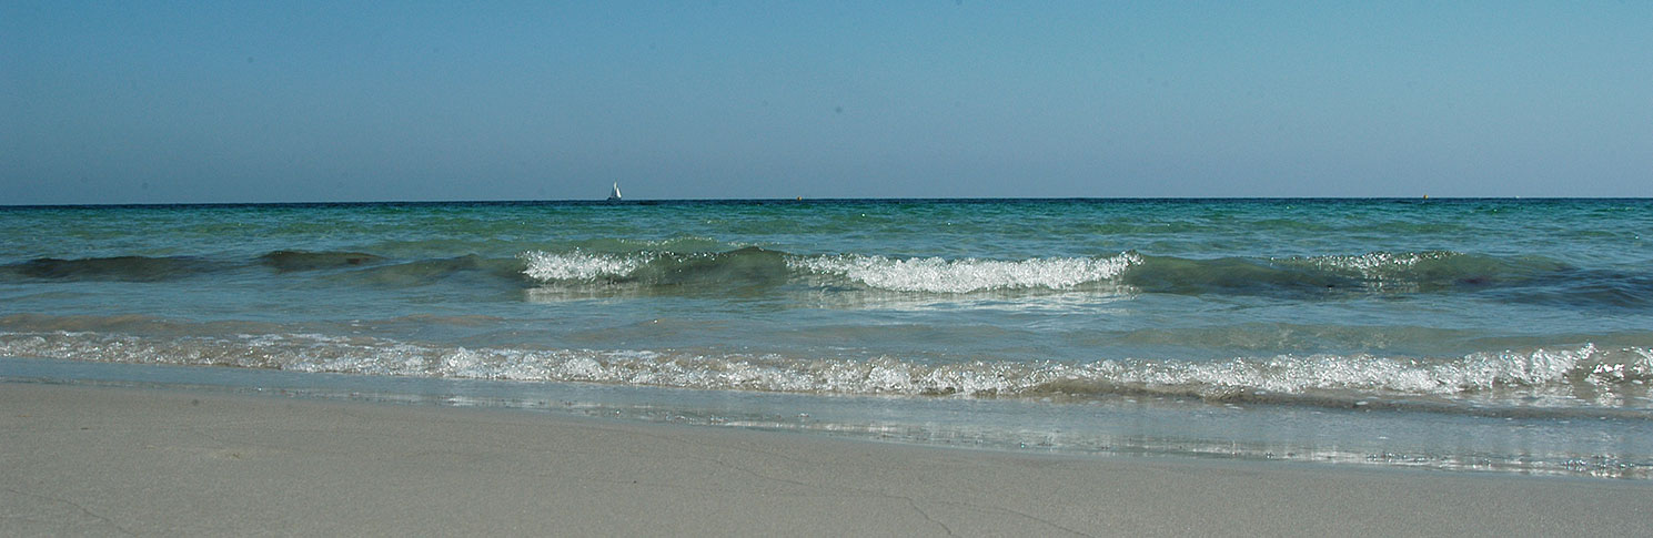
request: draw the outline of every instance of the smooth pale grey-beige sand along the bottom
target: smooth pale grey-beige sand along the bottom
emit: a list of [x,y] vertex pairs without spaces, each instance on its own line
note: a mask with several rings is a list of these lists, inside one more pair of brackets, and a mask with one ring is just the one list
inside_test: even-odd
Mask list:
[[0,385],[0,533],[1646,535],[1641,480]]

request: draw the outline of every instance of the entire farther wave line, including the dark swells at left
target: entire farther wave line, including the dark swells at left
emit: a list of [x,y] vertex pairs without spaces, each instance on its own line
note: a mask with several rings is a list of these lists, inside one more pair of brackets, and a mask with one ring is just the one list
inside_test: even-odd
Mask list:
[[[714,244],[701,244],[711,248]],[[1136,251],[1071,257],[899,257],[788,254],[762,248],[663,251],[522,251],[514,257],[463,254],[397,259],[364,251],[271,251],[251,259],[195,256],[41,257],[0,266],[0,281],[172,282],[253,271],[260,277],[412,287],[468,276],[494,287],[650,294],[762,294],[795,289],[889,294],[1108,294],[1274,295],[1479,294],[1491,300],[1562,307],[1653,307],[1653,272],[1579,269],[1542,256],[1498,257],[1453,251],[1303,257],[1150,256]],[[666,244],[669,248],[669,244]],[[630,249],[628,249],[630,248]],[[650,248],[643,244],[641,248]],[[469,281],[466,281],[469,282]]]

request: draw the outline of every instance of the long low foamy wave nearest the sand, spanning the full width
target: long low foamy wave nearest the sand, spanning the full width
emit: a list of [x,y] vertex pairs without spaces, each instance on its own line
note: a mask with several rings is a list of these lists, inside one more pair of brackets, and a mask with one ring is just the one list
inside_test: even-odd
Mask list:
[[1494,413],[1618,413],[1653,419],[1653,350],[1531,348],[1451,358],[1279,355],[1227,361],[1099,360],[931,365],[681,350],[431,347],[374,337],[264,333],[136,337],[0,333],[0,355],[114,363],[212,365],[390,376],[584,381],[851,396],[1195,398],[1314,406],[1422,406]]

